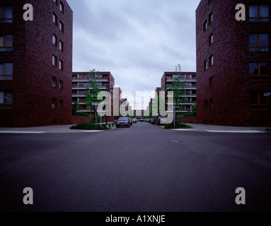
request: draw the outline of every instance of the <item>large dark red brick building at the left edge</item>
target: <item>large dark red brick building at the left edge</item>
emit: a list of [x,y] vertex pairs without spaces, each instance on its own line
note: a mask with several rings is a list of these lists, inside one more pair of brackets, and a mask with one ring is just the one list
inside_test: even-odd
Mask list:
[[[32,4],[33,20],[23,19]],[[66,0],[0,0],[0,126],[71,124],[73,12]]]

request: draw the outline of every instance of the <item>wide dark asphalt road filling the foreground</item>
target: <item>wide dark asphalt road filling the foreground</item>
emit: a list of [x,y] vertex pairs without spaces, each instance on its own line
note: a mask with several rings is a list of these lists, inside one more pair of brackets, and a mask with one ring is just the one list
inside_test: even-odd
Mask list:
[[[0,134],[1,211],[270,211],[271,134]],[[170,141],[180,141],[171,143]],[[23,204],[23,189],[34,205]],[[246,189],[246,205],[235,191]]]

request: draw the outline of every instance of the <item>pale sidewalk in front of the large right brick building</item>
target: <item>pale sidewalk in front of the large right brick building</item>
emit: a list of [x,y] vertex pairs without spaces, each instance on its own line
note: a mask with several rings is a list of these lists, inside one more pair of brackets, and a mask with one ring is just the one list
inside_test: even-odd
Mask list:
[[210,133],[266,133],[267,127],[214,126],[204,124],[187,124],[193,129],[174,129],[175,131],[207,131]]

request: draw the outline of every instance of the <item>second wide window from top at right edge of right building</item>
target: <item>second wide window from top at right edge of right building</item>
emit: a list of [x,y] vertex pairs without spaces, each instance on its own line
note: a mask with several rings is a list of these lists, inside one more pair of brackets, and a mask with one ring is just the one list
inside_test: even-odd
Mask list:
[[250,34],[249,35],[250,51],[269,51],[268,34]]

